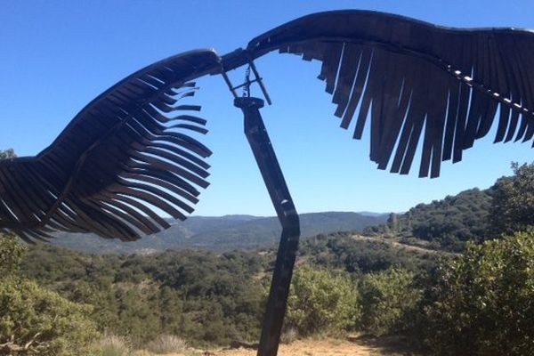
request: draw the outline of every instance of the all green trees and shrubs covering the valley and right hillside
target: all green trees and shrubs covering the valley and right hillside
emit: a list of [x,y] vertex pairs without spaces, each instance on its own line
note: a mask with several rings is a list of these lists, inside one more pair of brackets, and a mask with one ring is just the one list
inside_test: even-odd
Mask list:
[[[490,190],[416,206],[374,229],[465,245],[463,254],[349,232],[303,241],[286,332],[403,335],[436,355],[534,354],[534,166],[513,168]],[[274,255],[87,255],[1,237],[0,354],[92,354],[102,335],[254,343]]]

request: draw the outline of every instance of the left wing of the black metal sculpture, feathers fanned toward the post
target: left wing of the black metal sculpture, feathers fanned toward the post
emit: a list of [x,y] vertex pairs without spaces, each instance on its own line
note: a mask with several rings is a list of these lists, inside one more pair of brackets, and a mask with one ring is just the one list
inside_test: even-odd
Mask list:
[[[211,152],[193,135],[200,108],[177,103],[191,80],[219,65],[200,50],[159,61],[89,103],[50,147],[0,162],[0,231],[42,239],[52,231],[138,239],[185,219],[206,188]],[[159,210],[158,210],[159,209]]]

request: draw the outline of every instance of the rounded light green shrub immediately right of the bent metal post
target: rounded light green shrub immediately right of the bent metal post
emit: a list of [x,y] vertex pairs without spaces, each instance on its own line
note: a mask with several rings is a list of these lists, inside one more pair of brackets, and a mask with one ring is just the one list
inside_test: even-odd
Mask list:
[[359,318],[358,292],[351,279],[312,266],[295,271],[287,327],[307,336],[354,328]]

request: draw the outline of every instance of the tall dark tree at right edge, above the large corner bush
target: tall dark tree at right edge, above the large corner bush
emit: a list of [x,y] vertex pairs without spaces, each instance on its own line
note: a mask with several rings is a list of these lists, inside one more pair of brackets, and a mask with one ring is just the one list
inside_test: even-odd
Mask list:
[[490,206],[490,235],[512,235],[534,225],[534,164],[512,163],[514,175],[493,186]]

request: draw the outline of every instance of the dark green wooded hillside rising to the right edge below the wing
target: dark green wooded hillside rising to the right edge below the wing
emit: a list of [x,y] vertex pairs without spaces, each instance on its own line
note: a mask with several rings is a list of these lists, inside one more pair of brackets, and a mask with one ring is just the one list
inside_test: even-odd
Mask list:
[[499,178],[487,190],[474,188],[419,204],[404,214],[390,214],[387,223],[365,232],[461,252],[469,241],[525,231],[534,224],[534,165],[512,163],[512,170],[514,175]]

